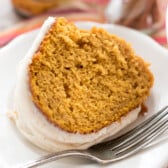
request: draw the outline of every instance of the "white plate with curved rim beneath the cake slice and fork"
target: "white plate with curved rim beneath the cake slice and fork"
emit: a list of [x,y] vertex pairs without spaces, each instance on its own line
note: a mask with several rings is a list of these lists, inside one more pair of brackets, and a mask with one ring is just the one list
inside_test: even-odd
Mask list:
[[[91,22],[77,23],[77,25],[83,29],[89,29],[95,25],[103,27],[110,33],[116,34],[130,42],[136,53],[151,63],[150,68],[155,76],[152,94],[147,101],[148,115],[157,112],[168,104],[168,51],[166,49],[159,46],[146,35],[128,28]],[[9,121],[5,114],[8,95],[16,80],[18,62],[27,53],[36,34],[37,31],[33,31],[19,36],[0,50],[0,168],[12,167],[44,154],[44,152],[29,144],[19,134],[14,124]],[[103,167],[158,168],[166,164],[167,158],[168,142],[164,141],[152,149]],[[51,165],[44,167],[51,167]],[[68,158],[56,161],[52,164],[52,167],[97,168],[102,166],[84,159]]]

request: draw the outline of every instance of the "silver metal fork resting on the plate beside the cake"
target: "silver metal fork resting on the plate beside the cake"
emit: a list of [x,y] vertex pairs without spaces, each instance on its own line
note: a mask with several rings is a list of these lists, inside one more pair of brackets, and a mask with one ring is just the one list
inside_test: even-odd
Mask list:
[[168,129],[168,106],[126,134],[86,150],[67,150],[43,156],[17,168],[33,168],[68,156],[84,157],[101,164],[119,161],[145,147]]

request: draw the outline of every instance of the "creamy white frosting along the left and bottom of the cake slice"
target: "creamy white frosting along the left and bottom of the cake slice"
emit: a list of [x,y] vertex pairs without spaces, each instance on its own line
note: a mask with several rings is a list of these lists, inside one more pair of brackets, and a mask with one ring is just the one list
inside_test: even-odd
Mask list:
[[140,107],[123,117],[120,122],[115,122],[96,133],[85,135],[68,133],[49,123],[32,102],[28,86],[27,68],[31,63],[32,55],[54,22],[55,19],[51,17],[45,21],[32,48],[19,64],[16,88],[14,91],[14,109],[12,109],[12,111],[17,112],[17,115],[14,115],[14,120],[21,133],[40,148],[52,152],[74,148],[85,149],[116,134],[133,122],[138,117]]

